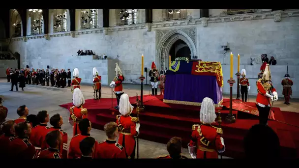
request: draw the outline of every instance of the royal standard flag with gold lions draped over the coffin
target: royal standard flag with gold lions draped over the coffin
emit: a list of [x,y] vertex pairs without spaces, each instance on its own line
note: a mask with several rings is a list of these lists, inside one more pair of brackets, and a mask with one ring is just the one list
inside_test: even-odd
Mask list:
[[220,62],[205,61],[172,61],[166,75],[192,74],[215,76],[217,84],[223,87],[223,73]]

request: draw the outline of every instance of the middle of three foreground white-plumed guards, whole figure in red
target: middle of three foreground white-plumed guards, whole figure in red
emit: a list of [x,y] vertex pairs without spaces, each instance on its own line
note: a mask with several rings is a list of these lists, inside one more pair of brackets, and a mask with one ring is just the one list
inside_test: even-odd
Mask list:
[[120,113],[117,115],[116,123],[119,126],[120,138],[119,144],[124,147],[128,159],[135,158],[135,137],[139,135],[140,124],[137,117],[131,117],[133,106],[130,104],[129,96],[123,94],[120,96]]

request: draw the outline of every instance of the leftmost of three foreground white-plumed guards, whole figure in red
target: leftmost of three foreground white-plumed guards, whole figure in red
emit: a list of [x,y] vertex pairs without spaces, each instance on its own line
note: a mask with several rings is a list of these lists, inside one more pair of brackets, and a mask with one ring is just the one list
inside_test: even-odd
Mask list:
[[85,99],[78,87],[75,88],[73,92],[73,104],[74,106],[69,109],[69,122],[73,122],[73,136],[75,136],[81,133],[79,129],[79,122],[82,119],[87,118],[87,109],[82,107],[85,104]]

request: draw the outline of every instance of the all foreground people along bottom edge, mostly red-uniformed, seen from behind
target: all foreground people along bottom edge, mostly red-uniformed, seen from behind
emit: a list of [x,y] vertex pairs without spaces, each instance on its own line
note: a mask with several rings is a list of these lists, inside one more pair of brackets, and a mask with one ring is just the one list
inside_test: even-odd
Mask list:
[[[29,114],[25,105],[17,109],[20,116],[7,120],[7,108],[0,105],[0,157],[2,159],[134,159],[136,140],[140,133],[137,117],[132,117],[133,106],[127,94],[120,96],[119,112],[116,122],[106,123],[106,140],[98,142],[90,135],[91,122],[83,94],[79,88],[73,93],[69,122],[73,124],[73,137],[68,143],[68,134],[61,129],[62,116],[57,113],[49,116],[47,111],[37,115]],[[188,151],[191,158],[211,159],[225,151],[222,129],[211,125],[215,122],[214,102],[206,97],[200,110],[200,123],[192,126]],[[71,122],[72,121],[72,122]],[[48,124],[50,122],[50,125]],[[259,137],[259,143],[256,138]],[[158,156],[159,159],[190,158],[182,154],[182,140],[173,137],[166,147],[169,154]],[[259,152],[257,152],[259,151]],[[280,157],[280,143],[276,133],[265,124],[252,126],[244,138],[244,152],[248,158]]]

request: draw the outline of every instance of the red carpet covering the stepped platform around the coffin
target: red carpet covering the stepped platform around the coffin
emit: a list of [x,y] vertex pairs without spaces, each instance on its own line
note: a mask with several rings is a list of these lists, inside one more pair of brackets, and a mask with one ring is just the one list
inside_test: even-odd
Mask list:
[[[227,100],[224,99],[224,106],[226,106]],[[178,136],[183,139],[183,145],[186,147],[190,140],[192,125],[199,123],[200,107],[166,104],[163,103],[163,96],[146,95],[143,101],[145,112],[140,113],[141,132],[139,138],[167,143],[170,138]],[[135,106],[136,97],[130,97],[130,102]],[[107,122],[116,121],[116,115],[119,114],[118,111],[113,109],[116,104],[116,99],[86,100],[84,108],[88,109],[88,118],[92,122],[92,126],[103,130],[103,126]],[[66,109],[69,109],[71,106],[72,103],[60,105],[60,107]],[[233,103],[233,108],[237,108],[238,111],[239,109],[244,111],[254,110],[253,108],[255,107],[254,103],[242,103],[241,106],[240,108],[236,103]],[[247,109],[244,107],[247,107]],[[223,121],[221,126],[226,145],[226,151],[223,155],[232,158],[244,157],[243,137],[252,125],[258,123],[256,114],[238,111],[233,111],[237,118],[236,123],[230,124],[224,122],[229,110],[226,107],[221,109]],[[299,113],[281,112],[279,108],[273,108],[273,111],[276,120],[298,125]],[[269,121],[269,126],[277,133],[280,139],[282,156],[284,158],[298,158],[299,128],[278,121]]]

